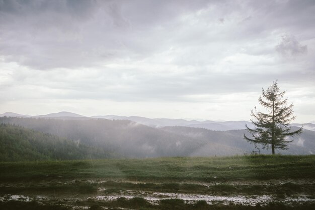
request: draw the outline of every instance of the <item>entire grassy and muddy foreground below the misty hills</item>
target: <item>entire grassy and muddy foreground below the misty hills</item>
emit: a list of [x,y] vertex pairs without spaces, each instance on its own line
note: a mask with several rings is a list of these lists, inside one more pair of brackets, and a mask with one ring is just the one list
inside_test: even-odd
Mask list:
[[0,163],[0,209],[310,209],[315,156]]

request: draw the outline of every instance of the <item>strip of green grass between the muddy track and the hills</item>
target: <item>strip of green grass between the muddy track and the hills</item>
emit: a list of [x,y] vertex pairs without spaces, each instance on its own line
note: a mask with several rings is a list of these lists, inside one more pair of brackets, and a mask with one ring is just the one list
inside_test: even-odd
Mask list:
[[106,159],[0,163],[0,181],[109,178],[136,181],[313,179],[315,155]]

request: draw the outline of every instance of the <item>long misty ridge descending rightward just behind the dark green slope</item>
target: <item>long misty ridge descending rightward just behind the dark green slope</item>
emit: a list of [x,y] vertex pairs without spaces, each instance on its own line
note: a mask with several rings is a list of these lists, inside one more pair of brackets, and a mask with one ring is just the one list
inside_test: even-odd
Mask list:
[[190,156],[203,146],[198,139],[145,126],[129,120],[59,120],[0,118],[10,123],[71,139],[92,147],[106,148],[122,157]]

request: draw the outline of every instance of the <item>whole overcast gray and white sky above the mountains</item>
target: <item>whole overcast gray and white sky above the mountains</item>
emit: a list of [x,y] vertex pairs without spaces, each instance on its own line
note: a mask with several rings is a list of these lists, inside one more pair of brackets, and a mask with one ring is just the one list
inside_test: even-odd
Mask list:
[[277,80],[307,123],[314,14],[313,0],[0,0],[0,113],[249,120]]

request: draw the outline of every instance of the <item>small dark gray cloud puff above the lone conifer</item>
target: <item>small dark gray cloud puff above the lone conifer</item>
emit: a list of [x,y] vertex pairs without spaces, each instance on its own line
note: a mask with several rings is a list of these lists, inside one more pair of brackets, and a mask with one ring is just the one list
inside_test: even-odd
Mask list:
[[292,35],[283,35],[276,51],[284,57],[297,56],[307,53],[307,45],[301,45]]

